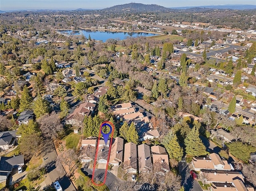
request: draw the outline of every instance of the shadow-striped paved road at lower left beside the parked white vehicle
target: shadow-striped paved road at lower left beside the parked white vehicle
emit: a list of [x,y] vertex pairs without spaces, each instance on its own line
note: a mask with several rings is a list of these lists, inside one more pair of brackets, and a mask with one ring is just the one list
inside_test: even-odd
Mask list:
[[[52,140],[45,140],[42,147],[43,160],[42,165],[46,165],[47,174],[46,179],[40,184],[43,189],[47,185],[52,185],[55,181],[59,181],[64,191],[76,191],[74,185],[70,182],[70,179],[66,176],[66,172],[62,167],[56,168],[57,154],[54,149]],[[53,186],[53,185],[52,185]]]

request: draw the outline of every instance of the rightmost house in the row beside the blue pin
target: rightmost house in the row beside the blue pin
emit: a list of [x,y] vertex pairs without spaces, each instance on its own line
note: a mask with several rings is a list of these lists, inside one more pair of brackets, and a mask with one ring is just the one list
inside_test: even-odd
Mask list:
[[165,175],[170,171],[170,164],[168,154],[164,147],[154,145],[151,147],[153,165],[155,169],[158,169],[158,173]]

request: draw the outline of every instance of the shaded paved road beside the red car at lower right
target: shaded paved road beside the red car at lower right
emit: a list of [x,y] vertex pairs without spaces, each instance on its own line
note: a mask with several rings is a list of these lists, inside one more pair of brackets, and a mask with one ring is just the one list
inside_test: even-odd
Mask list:
[[192,179],[186,161],[180,161],[178,167],[182,178],[181,184],[184,186],[185,191],[202,191],[198,181]]

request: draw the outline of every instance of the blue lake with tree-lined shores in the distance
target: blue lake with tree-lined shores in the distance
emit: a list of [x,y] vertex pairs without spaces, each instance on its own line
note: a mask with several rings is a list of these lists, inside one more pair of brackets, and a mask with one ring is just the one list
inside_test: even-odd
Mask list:
[[116,32],[116,31],[98,31],[98,30],[58,30],[58,32],[69,35],[81,35],[84,34],[86,38],[88,38],[89,34],[92,39],[102,40],[102,42],[106,42],[106,40],[113,38],[117,40],[124,40],[127,37],[139,37],[139,36],[156,36],[158,34],[146,33],[146,32]]

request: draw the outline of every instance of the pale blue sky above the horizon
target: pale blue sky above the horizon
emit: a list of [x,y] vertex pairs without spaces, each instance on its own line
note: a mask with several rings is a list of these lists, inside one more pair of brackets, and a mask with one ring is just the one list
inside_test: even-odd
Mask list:
[[28,10],[28,9],[54,9],[74,10],[102,9],[126,3],[158,4],[164,7],[225,5],[225,4],[251,4],[256,0],[0,0],[0,10]]

